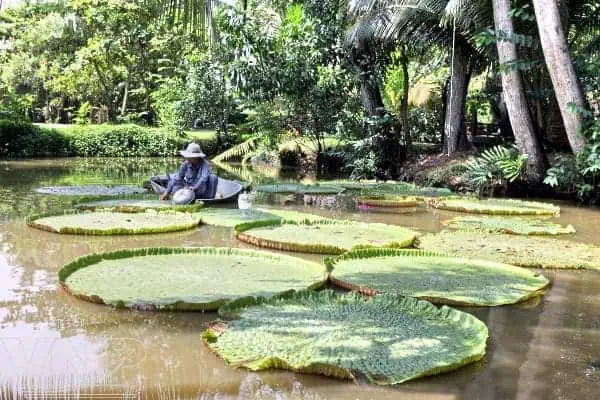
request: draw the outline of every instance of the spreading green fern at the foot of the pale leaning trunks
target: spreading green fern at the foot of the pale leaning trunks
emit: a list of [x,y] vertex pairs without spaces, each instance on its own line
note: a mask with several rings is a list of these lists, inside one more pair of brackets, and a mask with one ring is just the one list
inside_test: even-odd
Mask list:
[[466,163],[465,177],[471,189],[482,192],[506,187],[525,177],[527,155],[516,148],[494,146]]

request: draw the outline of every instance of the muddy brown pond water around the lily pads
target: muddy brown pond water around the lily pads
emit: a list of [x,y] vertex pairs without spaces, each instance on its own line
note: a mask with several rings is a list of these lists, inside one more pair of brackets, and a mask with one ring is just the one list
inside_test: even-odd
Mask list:
[[[202,343],[213,313],[117,311],[79,301],[57,286],[76,257],[127,247],[249,247],[230,229],[148,236],[83,237],[28,228],[24,216],[68,206],[33,188],[140,183],[176,168],[176,159],[61,159],[0,162],[0,399],[102,394],[119,398],[201,399],[594,399],[600,398],[600,272],[544,271],[553,287],[540,301],[467,308],[490,330],[484,360],[395,387],[284,371],[227,367]],[[293,175],[293,172],[291,173]],[[323,216],[385,222],[421,232],[456,214],[364,213],[351,196],[266,196]],[[600,245],[600,210],[561,204],[570,237]],[[294,254],[312,260],[321,256]]]

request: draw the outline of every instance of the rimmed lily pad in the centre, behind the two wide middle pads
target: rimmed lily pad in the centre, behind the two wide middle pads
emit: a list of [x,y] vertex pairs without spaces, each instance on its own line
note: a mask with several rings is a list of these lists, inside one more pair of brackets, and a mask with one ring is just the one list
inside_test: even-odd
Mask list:
[[235,227],[236,237],[260,247],[317,254],[354,248],[410,247],[416,233],[394,225],[352,221],[256,222]]

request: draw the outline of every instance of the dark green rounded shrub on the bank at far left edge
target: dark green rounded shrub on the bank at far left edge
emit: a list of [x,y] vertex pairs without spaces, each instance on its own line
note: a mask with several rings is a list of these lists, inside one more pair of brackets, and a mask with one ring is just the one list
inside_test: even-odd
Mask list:
[[41,129],[29,122],[0,120],[0,157],[66,156],[70,141],[56,130]]

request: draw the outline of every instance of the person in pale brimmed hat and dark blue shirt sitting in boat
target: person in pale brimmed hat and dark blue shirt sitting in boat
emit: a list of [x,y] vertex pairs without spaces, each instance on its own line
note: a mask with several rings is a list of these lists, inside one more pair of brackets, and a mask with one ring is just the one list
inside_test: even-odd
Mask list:
[[206,154],[200,145],[190,143],[179,154],[185,159],[179,171],[169,177],[167,190],[160,195],[161,200],[167,200],[171,194],[181,189],[191,189],[196,199],[212,199],[217,191],[218,178],[212,173]]

